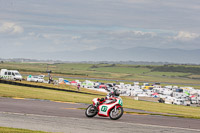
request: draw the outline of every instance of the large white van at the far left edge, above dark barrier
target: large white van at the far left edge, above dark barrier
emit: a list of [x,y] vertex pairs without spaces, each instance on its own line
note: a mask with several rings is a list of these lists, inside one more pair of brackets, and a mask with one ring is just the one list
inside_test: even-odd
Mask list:
[[10,80],[22,80],[22,76],[17,70],[7,70],[1,69],[0,77],[3,79],[10,79]]

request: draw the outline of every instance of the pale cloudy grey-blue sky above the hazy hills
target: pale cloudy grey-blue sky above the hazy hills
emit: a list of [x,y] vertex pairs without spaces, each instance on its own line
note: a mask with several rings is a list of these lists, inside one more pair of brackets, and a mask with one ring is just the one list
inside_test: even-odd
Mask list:
[[104,47],[200,49],[199,16],[199,0],[0,0],[0,58]]

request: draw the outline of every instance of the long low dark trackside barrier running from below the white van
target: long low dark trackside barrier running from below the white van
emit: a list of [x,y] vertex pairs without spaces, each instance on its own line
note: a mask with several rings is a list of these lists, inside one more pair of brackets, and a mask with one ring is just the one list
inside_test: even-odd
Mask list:
[[42,88],[42,89],[56,90],[56,91],[75,92],[75,93],[81,93],[81,94],[104,96],[104,95],[101,95],[101,94],[92,94],[92,93],[87,93],[87,92],[80,92],[80,91],[74,91],[74,90],[65,90],[65,89],[59,89],[59,88],[53,88],[53,87],[47,87],[47,86],[41,86],[41,85],[25,84],[25,83],[21,83],[21,82],[14,82],[14,81],[10,81],[10,80],[8,81],[8,80],[3,80],[3,79],[0,79],[0,83],[10,84],[10,85],[18,85],[18,86],[26,86],[26,87],[33,87],[33,88]]

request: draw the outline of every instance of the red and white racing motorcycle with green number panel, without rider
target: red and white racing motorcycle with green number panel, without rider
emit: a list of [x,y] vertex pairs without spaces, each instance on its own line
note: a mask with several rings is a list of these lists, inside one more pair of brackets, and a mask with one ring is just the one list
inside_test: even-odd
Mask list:
[[94,117],[95,115],[110,117],[112,120],[119,119],[123,113],[123,101],[120,97],[113,97],[112,99],[105,100],[100,104],[99,98],[92,100],[93,104],[89,105],[85,111],[87,117]]

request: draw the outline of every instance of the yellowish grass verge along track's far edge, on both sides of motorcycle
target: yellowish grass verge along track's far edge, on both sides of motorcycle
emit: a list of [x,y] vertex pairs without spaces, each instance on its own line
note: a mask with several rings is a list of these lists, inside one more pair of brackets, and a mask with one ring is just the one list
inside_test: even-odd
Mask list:
[[[33,98],[45,99],[52,101],[76,102],[91,104],[91,100],[95,97],[103,97],[102,93],[96,92],[97,95],[80,94],[76,92],[63,92],[56,90],[47,90],[42,88],[31,88],[16,85],[8,85],[0,83],[1,97],[19,97],[19,98]],[[72,89],[69,86],[64,86],[65,89]],[[88,90],[83,90],[87,92]],[[90,91],[88,91],[90,93]],[[99,95],[98,95],[99,93]],[[122,97],[124,107],[146,110],[159,113],[178,114],[179,117],[198,118],[200,119],[199,107],[188,107],[178,105],[167,105],[162,103],[152,103],[145,101],[135,101],[130,97]]]

